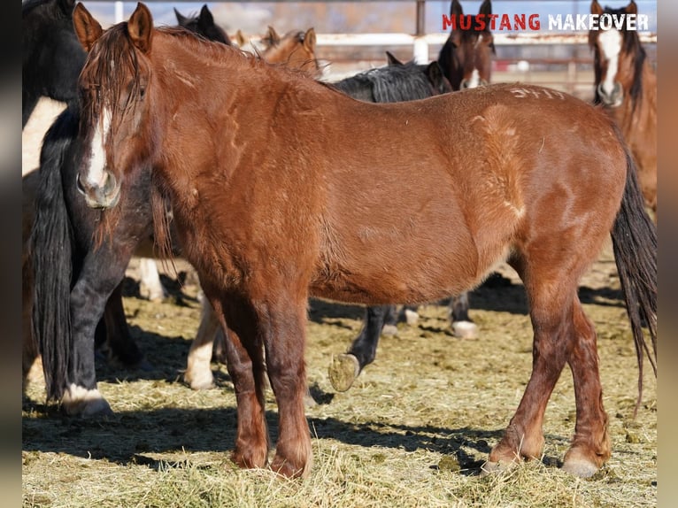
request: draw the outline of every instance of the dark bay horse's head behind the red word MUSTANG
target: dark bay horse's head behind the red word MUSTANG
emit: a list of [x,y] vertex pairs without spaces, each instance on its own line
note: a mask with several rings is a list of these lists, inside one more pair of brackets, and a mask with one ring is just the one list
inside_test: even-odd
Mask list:
[[456,27],[440,51],[443,73],[455,90],[473,89],[489,83],[495,45],[489,30],[492,4],[485,0],[475,16],[464,16],[458,0],[452,0],[451,19]]

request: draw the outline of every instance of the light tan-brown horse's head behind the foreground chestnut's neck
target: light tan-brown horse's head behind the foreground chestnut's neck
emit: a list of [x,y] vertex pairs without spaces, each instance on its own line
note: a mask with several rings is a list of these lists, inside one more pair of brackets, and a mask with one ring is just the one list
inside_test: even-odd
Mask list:
[[313,77],[320,77],[322,71],[315,58],[315,29],[309,28],[305,32],[292,30],[281,37],[273,27],[268,27],[261,42],[265,46],[261,58],[266,62],[285,64],[293,69],[301,69]]

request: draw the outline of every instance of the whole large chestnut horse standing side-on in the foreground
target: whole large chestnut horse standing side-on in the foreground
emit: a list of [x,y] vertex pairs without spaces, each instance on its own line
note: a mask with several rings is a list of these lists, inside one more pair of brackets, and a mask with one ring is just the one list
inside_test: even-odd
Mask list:
[[[546,404],[566,364],[576,425],[563,468],[590,476],[610,457],[596,332],[578,281],[612,234],[639,371],[643,350],[654,368],[657,237],[633,158],[605,112],[520,84],[366,103],[154,27],[141,3],[105,31],[82,4],[73,19],[89,51],[78,188],[113,218],[126,181],[153,168],[182,253],[228,332],[235,464],[268,463],[267,374],[279,410],[270,467],[310,471],[309,296],[430,302],[474,287],[503,260],[525,284],[534,360],[485,467],[542,455]],[[162,245],[166,224],[156,226]],[[383,249],[388,241],[397,248]]]

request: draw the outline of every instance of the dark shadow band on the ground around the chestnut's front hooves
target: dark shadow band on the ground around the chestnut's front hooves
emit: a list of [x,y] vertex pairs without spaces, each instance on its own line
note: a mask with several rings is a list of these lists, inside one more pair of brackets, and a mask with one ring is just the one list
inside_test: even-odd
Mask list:
[[[29,404],[30,407],[26,407]],[[23,418],[22,450],[65,453],[73,457],[108,460],[119,466],[145,464],[168,466],[173,452],[181,455],[200,452],[227,453],[235,443],[235,407],[219,409],[162,408],[151,411],[119,412],[106,419],[65,417],[56,405],[25,403],[28,412],[42,412],[47,418]],[[277,412],[266,412],[272,443],[278,437]],[[498,441],[502,431],[471,427],[389,425],[366,421],[349,423],[341,419],[309,418],[314,439],[406,451],[430,450],[458,461],[459,473],[478,474],[490,450],[488,441]],[[154,455],[167,454],[169,458]],[[481,459],[482,457],[482,459]],[[199,459],[196,459],[199,461]],[[169,464],[171,466],[171,464]],[[437,464],[432,464],[437,469]]]

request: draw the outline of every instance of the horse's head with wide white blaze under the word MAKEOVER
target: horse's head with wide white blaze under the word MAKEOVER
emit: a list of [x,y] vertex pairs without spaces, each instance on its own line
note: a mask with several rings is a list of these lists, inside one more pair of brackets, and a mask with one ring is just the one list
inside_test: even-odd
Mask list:
[[[591,3],[591,14],[636,14],[636,2],[620,9],[603,9],[597,0]],[[594,52],[594,73],[596,80],[596,103],[608,107],[619,107],[625,95],[636,97],[640,93],[640,72],[645,52],[640,45],[636,30],[628,30],[626,24],[621,30],[590,30],[589,46]]]

